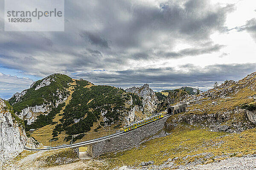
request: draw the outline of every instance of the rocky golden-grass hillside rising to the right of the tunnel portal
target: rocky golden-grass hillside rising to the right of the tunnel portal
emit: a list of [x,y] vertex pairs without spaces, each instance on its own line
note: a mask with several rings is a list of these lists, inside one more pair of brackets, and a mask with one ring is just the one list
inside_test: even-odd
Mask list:
[[225,113],[233,117],[230,122],[242,121],[246,119],[246,116],[238,110],[240,108],[254,109],[256,73],[250,74],[238,82],[225,81],[217,88],[198,95],[198,98],[201,99],[198,102],[192,102],[187,113]]

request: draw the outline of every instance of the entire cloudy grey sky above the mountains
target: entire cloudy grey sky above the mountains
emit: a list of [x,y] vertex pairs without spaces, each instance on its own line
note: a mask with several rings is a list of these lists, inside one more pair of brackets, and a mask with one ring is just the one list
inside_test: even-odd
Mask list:
[[4,31],[0,96],[53,73],[155,91],[256,71],[255,0],[65,0],[64,32]]

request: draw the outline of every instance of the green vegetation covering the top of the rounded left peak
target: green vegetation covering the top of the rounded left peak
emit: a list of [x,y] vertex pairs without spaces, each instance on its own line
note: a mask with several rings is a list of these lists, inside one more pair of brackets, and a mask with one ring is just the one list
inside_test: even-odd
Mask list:
[[[50,85],[46,85],[38,90],[35,88],[40,85],[44,79],[51,79]],[[9,99],[15,113],[20,113],[24,108],[35,105],[42,105],[43,103],[52,103],[55,106],[59,96],[57,91],[64,97],[69,95],[66,90],[67,84],[72,81],[70,77],[64,74],[52,74],[44,79],[38,80],[34,85],[27,89],[26,94],[22,96],[19,102],[16,102],[16,97]]]

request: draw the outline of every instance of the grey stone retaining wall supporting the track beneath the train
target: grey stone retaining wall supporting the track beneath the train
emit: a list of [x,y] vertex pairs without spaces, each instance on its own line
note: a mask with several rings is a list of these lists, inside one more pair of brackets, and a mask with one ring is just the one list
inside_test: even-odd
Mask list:
[[128,131],[126,133],[122,133],[119,136],[114,136],[110,139],[106,139],[105,141],[93,144],[93,155],[91,156],[93,158],[96,158],[103,153],[125,150],[129,147],[140,144],[143,139],[150,137],[156,134],[158,131],[162,130],[168,117],[169,116],[166,116],[143,127]]

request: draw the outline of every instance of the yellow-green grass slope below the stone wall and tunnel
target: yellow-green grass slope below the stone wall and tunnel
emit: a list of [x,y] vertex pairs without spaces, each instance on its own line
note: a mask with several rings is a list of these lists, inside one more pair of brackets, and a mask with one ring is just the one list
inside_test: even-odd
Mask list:
[[[195,160],[209,163],[217,159],[224,159],[225,155],[230,157],[255,154],[255,130],[246,130],[241,134],[227,134],[183,125],[177,127],[169,136],[150,140],[138,148],[102,156],[101,159],[114,158],[114,162],[108,160],[109,167],[138,166],[142,161],[154,161],[159,165],[169,158],[177,165]],[[212,156],[207,158],[205,153],[212,154]],[[216,156],[220,156],[220,158],[216,158]]]

